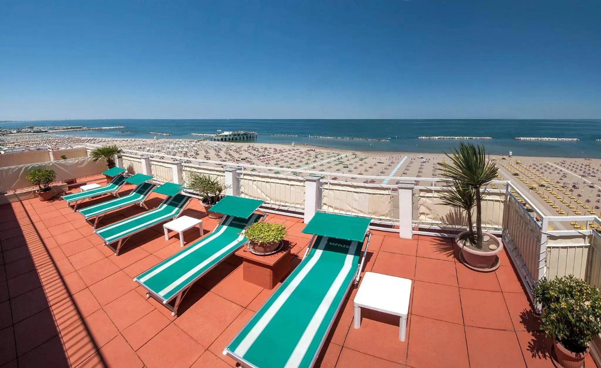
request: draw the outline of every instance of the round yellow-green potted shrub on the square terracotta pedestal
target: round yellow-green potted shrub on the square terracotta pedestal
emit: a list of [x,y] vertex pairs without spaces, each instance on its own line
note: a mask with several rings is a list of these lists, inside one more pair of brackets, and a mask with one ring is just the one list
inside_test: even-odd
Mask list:
[[286,227],[279,223],[255,222],[245,229],[249,252],[267,256],[278,252],[286,237]]

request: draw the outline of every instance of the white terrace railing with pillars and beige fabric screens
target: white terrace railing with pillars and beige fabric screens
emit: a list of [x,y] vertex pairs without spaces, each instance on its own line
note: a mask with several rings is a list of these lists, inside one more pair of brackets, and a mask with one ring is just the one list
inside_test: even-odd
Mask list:
[[[87,146],[87,151],[93,149]],[[47,152],[47,151],[46,151]],[[264,210],[304,217],[316,211],[367,216],[372,227],[412,234],[454,236],[466,228],[465,216],[442,204],[441,178],[362,176],[364,179],[399,181],[383,185],[344,181],[349,174],[284,169],[245,163],[198,160],[149,152],[124,150],[118,165],[129,173],[147,173],[159,182],[188,186],[192,173],[204,173],[228,185],[227,193],[266,201]],[[25,175],[32,167],[57,170],[60,179],[102,172],[102,161],[90,158],[49,161],[0,168],[0,190],[29,187]],[[284,172],[276,175],[258,170]],[[293,173],[296,172],[296,173]],[[308,173],[301,177],[297,173]],[[69,176],[69,177],[67,177]],[[339,180],[332,179],[338,176]],[[414,182],[432,186],[415,186]],[[7,184],[10,183],[10,184]],[[483,226],[499,234],[519,271],[528,292],[543,277],[574,274],[592,285],[601,286],[601,237],[589,225],[601,226],[597,216],[548,216],[511,181],[495,181],[504,190],[487,190],[483,201]],[[8,187],[7,187],[8,186]],[[193,193],[192,193],[193,194]],[[525,206],[525,205],[527,206]],[[571,229],[570,223],[585,223],[585,229]]]

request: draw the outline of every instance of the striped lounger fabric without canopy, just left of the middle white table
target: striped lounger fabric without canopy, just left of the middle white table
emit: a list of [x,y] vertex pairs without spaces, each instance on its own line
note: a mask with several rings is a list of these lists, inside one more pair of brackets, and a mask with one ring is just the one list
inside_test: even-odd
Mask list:
[[191,199],[189,196],[178,194],[168,197],[154,210],[146,211],[129,219],[115,222],[94,231],[106,244],[129,237],[141,230],[150,228],[177,216]]

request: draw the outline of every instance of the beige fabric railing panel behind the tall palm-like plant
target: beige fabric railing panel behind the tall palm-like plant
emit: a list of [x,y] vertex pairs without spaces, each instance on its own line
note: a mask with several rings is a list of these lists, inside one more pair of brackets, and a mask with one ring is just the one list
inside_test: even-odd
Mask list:
[[[441,227],[465,226],[466,216],[463,211],[442,203],[442,189],[419,189],[417,220],[420,223],[431,223]],[[505,193],[488,192],[482,201],[482,226],[500,229],[503,225],[503,208]],[[472,214],[475,222],[475,208]]]

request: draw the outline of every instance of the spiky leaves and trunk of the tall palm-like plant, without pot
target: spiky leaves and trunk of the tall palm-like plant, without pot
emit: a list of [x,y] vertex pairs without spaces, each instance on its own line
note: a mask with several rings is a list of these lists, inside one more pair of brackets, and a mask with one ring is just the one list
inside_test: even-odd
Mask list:
[[459,149],[454,148],[452,154],[445,155],[451,162],[438,163],[444,169],[442,176],[475,192],[476,233],[472,233],[469,238],[477,249],[482,249],[482,187],[496,178],[499,169],[486,156],[484,146],[462,142],[459,143]]

